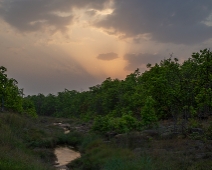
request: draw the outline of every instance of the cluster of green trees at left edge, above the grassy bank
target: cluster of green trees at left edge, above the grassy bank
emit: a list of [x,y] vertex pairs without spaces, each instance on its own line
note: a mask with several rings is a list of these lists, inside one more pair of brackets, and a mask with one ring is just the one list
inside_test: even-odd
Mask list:
[[23,98],[23,89],[18,88],[18,82],[15,79],[7,77],[6,71],[5,67],[0,67],[0,111],[36,116],[33,102]]

